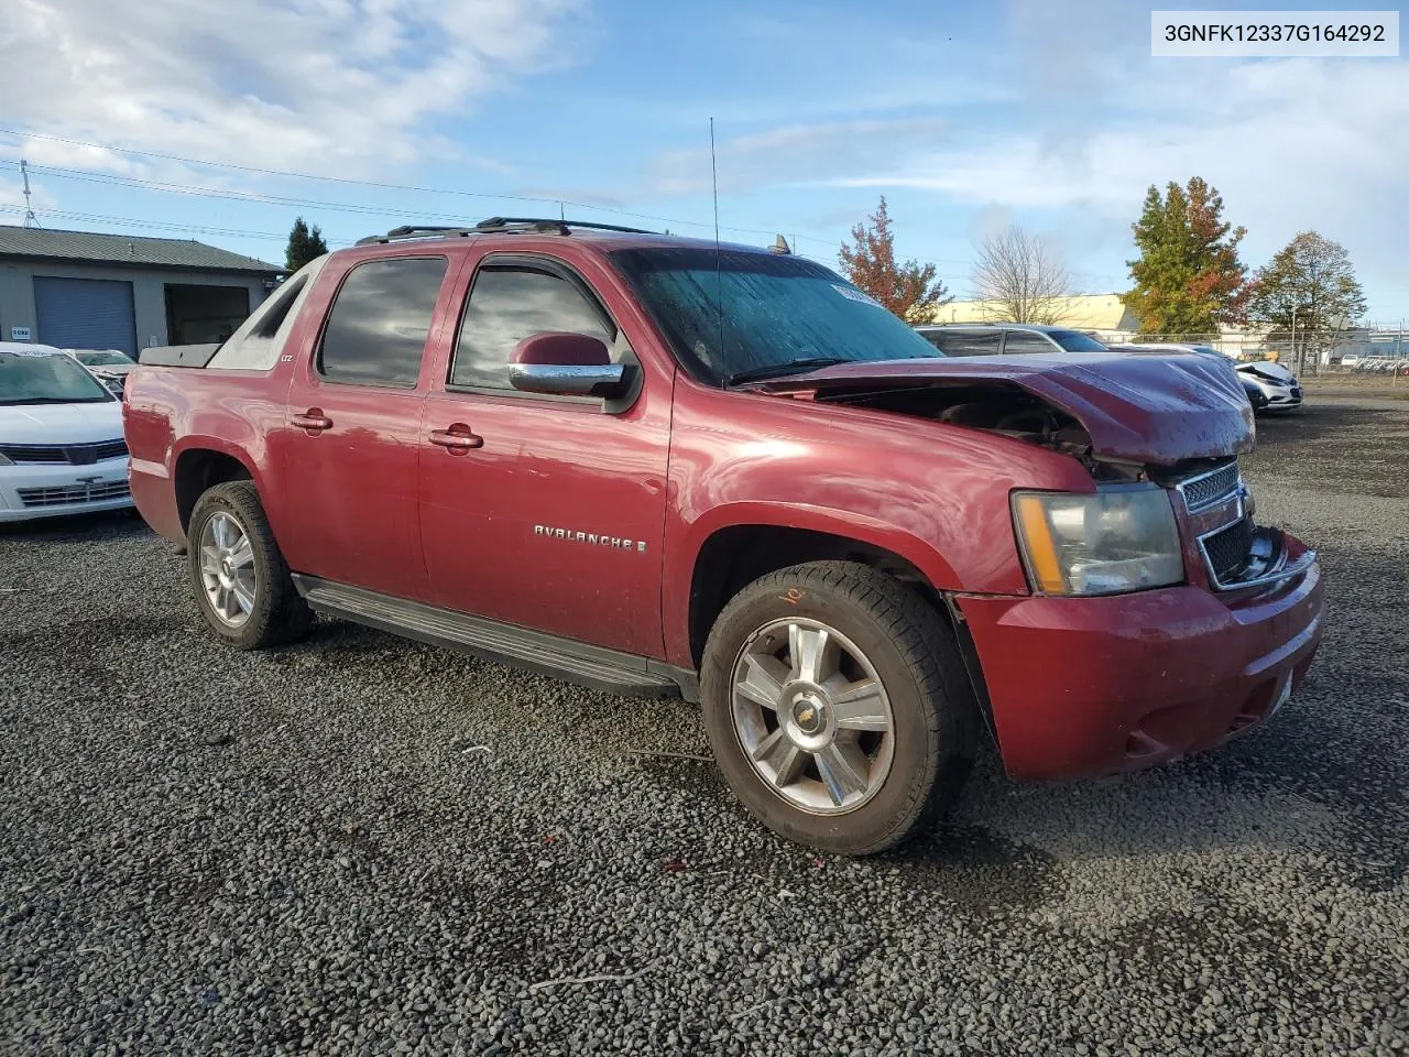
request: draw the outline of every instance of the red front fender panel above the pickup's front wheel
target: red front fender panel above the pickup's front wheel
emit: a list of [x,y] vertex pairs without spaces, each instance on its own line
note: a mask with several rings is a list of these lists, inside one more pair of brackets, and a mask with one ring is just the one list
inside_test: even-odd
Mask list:
[[666,658],[693,667],[689,599],[710,536],[740,524],[831,533],[899,554],[940,591],[1026,593],[1014,488],[1091,492],[1079,462],[1031,444],[859,407],[681,378],[666,510]]

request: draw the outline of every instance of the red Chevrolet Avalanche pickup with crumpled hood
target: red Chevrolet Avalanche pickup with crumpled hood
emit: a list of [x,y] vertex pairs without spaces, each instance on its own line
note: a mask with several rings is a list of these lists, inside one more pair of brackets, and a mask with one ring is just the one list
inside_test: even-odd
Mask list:
[[920,829],[985,734],[1016,778],[1217,746],[1320,638],[1227,365],[944,358],[785,245],[397,228],[125,397],[231,645],[318,612],[697,700],[743,805],[828,851]]

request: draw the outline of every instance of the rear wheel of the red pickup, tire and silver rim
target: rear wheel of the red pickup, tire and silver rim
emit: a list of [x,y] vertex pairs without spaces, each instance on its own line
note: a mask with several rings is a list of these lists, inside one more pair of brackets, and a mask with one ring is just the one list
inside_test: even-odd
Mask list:
[[263,650],[307,633],[313,612],[293,586],[252,481],[207,489],[196,500],[186,541],[196,606],[223,641],[237,650]]

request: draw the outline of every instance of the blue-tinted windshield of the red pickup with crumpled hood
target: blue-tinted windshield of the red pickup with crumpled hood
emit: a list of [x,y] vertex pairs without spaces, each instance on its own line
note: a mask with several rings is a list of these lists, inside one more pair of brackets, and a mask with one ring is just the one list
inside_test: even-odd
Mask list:
[[827,362],[943,355],[878,302],[812,261],[697,247],[621,249],[612,256],[676,357],[700,381],[717,385]]

